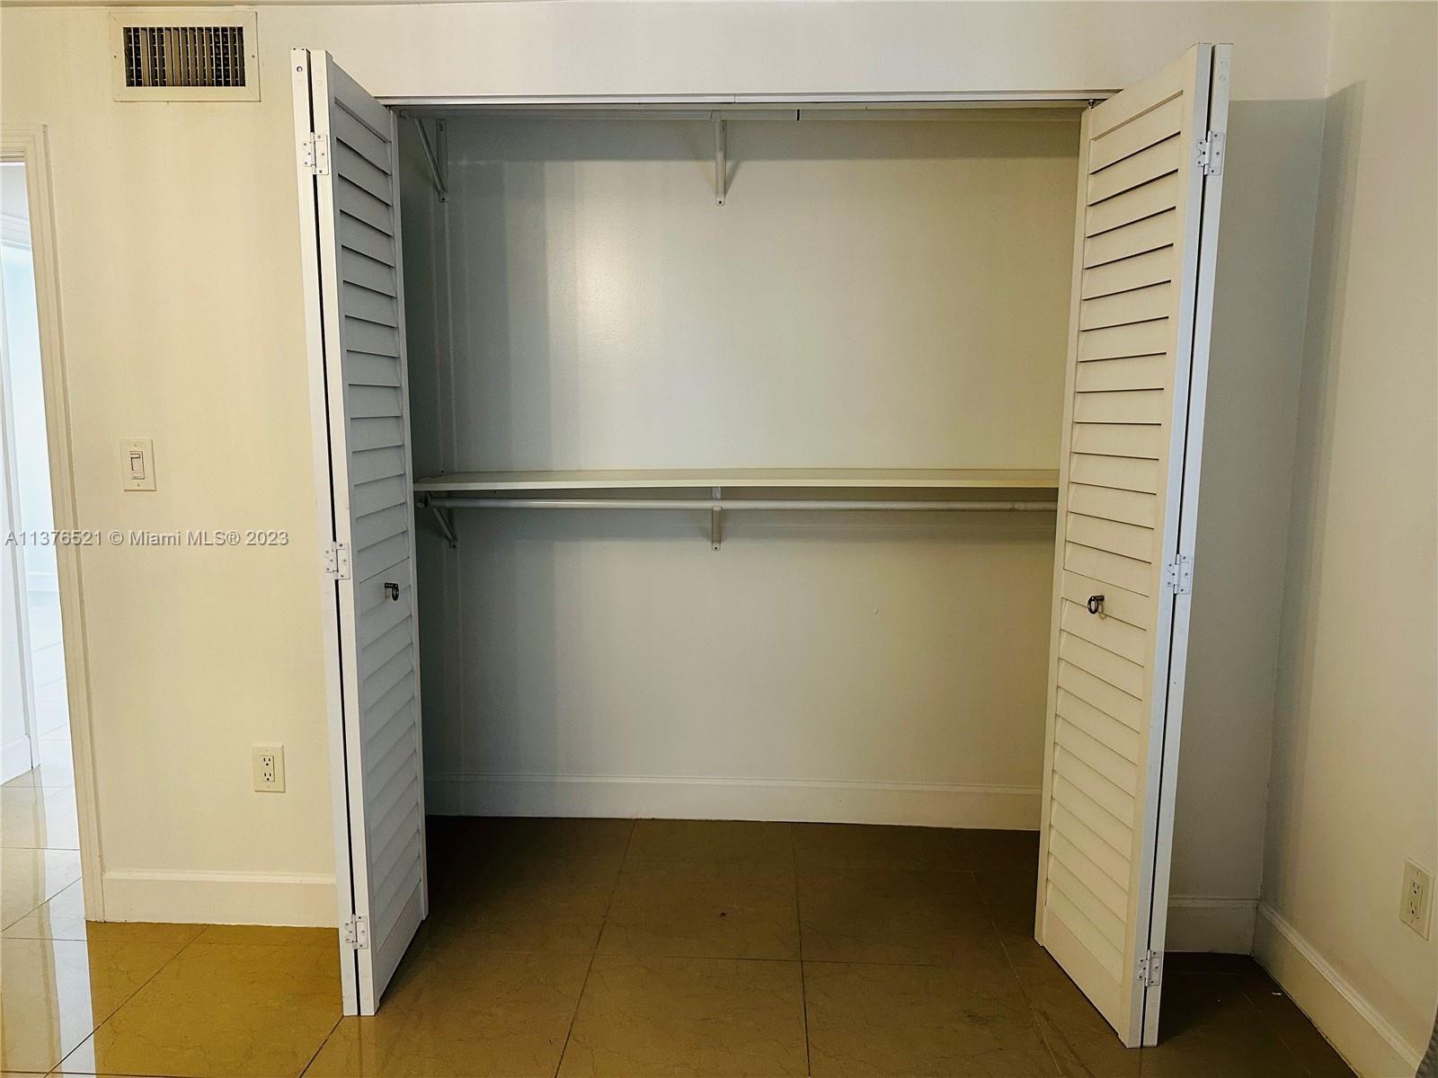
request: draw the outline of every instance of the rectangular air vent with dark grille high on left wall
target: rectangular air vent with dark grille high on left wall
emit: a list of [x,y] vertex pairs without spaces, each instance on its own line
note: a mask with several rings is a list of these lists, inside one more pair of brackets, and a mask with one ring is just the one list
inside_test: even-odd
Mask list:
[[259,101],[255,13],[112,13],[116,101]]

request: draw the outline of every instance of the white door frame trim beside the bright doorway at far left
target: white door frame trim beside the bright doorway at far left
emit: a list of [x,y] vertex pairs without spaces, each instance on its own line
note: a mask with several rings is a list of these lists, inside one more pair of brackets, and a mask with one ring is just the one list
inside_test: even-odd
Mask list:
[[[55,529],[73,532],[79,529],[79,513],[75,505],[69,377],[60,332],[60,287],[45,126],[0,126],[0,161],[24,165],[24,187],[30,208],[30,253],[35,259],[35,302],[40,321],[40,377],[45,385],[45,430],[50,454],[50,502]],[[60,578],[60,635],[65,641],[65,688],[69,697],[70,746],[75,756],[81,887],[85,894],[85,917],[102,921],[105,920],[104,857],[99,805],[95,798],[95,742],[91,726],[89,650],[85,645],[81,548],[75,543],[58,543],[55,561]]]

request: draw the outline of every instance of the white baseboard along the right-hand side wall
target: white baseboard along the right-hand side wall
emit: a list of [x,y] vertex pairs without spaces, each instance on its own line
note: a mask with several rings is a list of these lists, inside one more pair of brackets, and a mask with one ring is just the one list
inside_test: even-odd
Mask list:
[[1254,957],[1363,1078],[1411,1078],[1422,1051],[1267,903],[1258,903]]

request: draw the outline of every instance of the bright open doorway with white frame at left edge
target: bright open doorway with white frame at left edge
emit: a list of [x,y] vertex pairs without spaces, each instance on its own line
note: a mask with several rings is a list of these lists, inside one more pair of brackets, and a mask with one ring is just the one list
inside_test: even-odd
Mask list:
[[[0,132],[0,908],[101,920],[79,546],[43,128]],[[79,766],[78,766],[79,765]]]

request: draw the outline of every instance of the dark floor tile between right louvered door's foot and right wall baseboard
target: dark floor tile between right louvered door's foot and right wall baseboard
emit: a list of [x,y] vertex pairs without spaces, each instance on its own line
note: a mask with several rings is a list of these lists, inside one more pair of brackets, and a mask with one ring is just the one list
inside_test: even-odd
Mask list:
[[1238,979],[1209,973],[1165,972],[1159,1044],[1143,1049],[1142,1065],[1145,1078],[1306,1074]]

